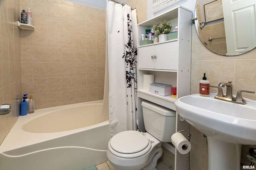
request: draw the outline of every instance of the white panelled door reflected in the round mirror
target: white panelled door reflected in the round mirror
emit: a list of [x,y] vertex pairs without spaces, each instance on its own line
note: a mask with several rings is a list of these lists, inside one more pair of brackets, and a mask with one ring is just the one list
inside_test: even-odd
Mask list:
[[238,55],[256,46],[255,0],[223,0],[227,54]]

